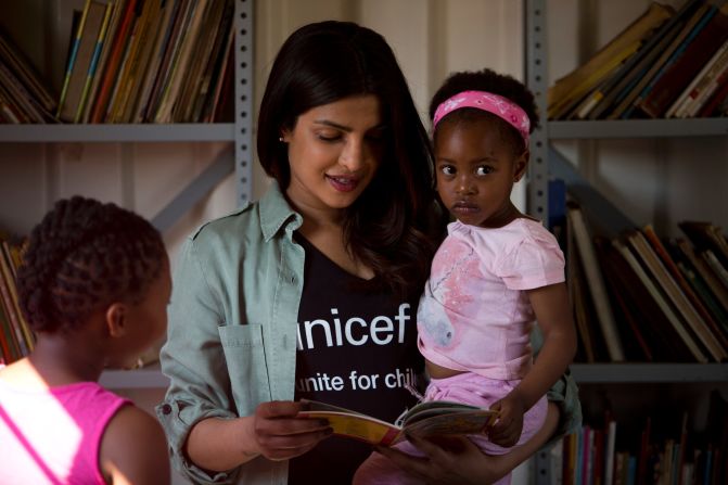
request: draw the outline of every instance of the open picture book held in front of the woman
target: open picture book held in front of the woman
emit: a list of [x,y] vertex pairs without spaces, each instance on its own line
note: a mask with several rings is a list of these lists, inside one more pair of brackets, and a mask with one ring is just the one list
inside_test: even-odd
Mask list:
[[498,416],[498,411],[490,409],[433,400],[418,404],[400,417],[398,422],[401,424],[393,424],[325,403],[309,399],[302,399],[302,403],[309,407],[299,412],[299,417],[327,419],[336,435],[382,446],[405,439],[406,433],[418,437],[481,434]]

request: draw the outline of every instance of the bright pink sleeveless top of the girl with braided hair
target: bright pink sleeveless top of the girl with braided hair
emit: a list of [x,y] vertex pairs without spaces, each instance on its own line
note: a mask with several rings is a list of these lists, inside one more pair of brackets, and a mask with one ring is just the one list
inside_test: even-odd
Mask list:
[[30,392],[0,381],[0,483],[105,484],[101,438],[126,404],[95,382]]

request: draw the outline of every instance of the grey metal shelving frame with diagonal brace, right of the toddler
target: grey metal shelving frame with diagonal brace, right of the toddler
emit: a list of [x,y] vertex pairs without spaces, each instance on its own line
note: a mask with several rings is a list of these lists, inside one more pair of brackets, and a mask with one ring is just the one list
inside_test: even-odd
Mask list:
[[[540,113],[547,112],[546,94],[549,88],[548,38],[546,0],[524,1],[525,79],[536,94]],[[563,8],[563,5],[561,5]],[[647,3],[644,4],[647,7]],[[589,9],[586,9],[589,10]],[[592,9],[595,14],[598,9]],[[692,139],[700,144],[706,137],[728,136],[728,118],[687,119],[617,119],[617,120],[546,120],[532,137],[532,164],[528,173],[528,212],[541,220],[549,218],[549,180],[558,177],[578,192],[579,199],[592,205],[592,213],[605,220],[606,227],[635,226],[628,216],[599,193],[586,176],[555,146],[554,142],[586,143],[595,140],[614,140],[621,153],[629,150],[629,142],[653,140],[660,146],[664,140]],[[715,143],[718,144],[718,143]],[[663,144],[664,146],[664,144]],[[664,149],[662,149],[664,150]],[[723,153],[715,154],[720,158]],[[700,161],[697,161],[700,162]],[[692,196],[699,197],[702,193]],[[684,194],[685,196],[685,194]],[[631,216],[631,215],[630,215]],[[597,322],[593,323],[595,329]],[[664,403],[664,408],[689,413],[689,425],[710,429],[706,408],[711,390],[719,390],[728,397],[728,363],[673,363],[673,362],[598,362],[571,366],[579,385],[585,423],[603,418],[604,403],[611,401],[615,416],[622,414],[623,430],[639,432],[644,409]],[[650,411],[647,411],[650,412]],[[620,426],[621,424],[617,424]],[[617,432],[618,433],[618,432]],[[618,436],[618,434],[617,434]],[[553,460],[548,451],[537,454],[537,484],[554,483],[551,474]],[[565,478],[564,478],[565,480]]]

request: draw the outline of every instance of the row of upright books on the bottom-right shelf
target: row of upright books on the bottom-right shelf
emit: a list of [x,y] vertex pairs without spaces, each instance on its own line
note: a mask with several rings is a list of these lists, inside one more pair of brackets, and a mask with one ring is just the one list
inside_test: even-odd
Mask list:
[[551,483],[705,484],[728,480],[728,400],[710,393],[707,426],[691,429],[689,413],[657,400],[630,427],[608,411],[604,420],[584,424],[552,451]]

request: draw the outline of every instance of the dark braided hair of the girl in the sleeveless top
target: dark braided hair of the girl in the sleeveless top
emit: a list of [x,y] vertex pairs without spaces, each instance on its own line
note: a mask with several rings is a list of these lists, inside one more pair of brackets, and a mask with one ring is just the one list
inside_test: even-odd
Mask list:
[[18,269],[21,308],[36,332],[68,332],[113,302],[139,303],[166,248],[141,216],[92,199],[58,201],[36,226]]

